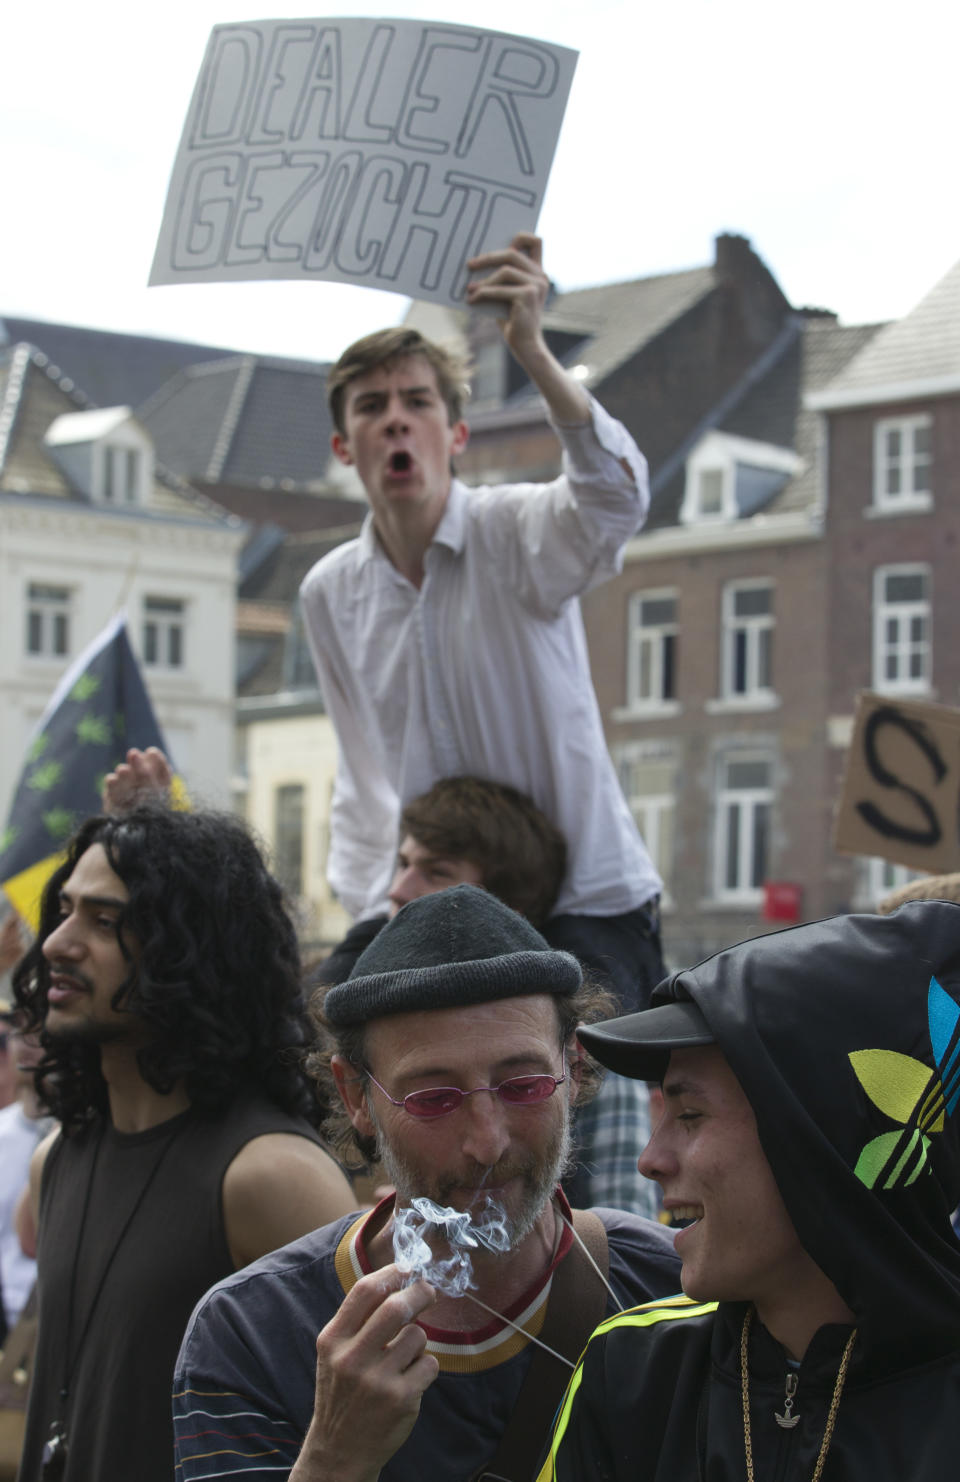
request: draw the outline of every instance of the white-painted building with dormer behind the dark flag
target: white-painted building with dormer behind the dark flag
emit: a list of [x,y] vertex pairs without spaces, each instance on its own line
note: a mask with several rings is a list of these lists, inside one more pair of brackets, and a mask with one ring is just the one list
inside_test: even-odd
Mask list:
[[228,806],[244,526],[159,468],[129,408],[0,356],[0,820],[70,661],[120,606],[191,794]]

